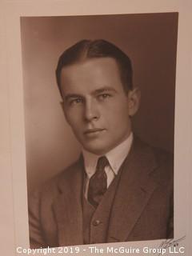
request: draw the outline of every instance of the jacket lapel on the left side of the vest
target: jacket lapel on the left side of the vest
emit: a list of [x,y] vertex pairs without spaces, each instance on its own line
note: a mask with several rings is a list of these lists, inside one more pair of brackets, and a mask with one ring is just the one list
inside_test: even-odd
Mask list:
[[82,157],[58,182],[60,195],[54,202],[59,246],[81,245],[82,237]]

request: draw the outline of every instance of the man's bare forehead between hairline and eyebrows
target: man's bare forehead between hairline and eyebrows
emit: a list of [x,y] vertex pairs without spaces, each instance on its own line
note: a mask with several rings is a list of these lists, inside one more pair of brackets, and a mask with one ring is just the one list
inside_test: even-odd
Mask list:
[[97,94],[122,90],[122,81],[113,58],[90,58],[64,67],[61,87],[63,94]]

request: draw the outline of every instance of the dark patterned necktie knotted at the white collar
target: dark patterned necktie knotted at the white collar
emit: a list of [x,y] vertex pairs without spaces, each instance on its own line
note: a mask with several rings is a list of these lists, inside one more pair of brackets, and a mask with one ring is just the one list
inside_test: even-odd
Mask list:
[[96,171],[90,178],[89,189],[88,189],[88,201],[95,208],[102,200],[103,194],[106,192],[106,172],[105,167],[109,165],[109,162],[105,156],[98,158]]

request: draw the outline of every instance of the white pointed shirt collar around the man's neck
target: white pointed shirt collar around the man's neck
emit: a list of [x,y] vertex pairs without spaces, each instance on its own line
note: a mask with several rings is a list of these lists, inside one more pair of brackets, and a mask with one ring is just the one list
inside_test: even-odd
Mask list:
[[[132,142],[133,133],[131,132],[129,137],[126,138],[125,141],[123,141],[113,150],[110,150],[108,153],[105,154],[106,158],[110,162],[110,168],[114,171],[114,174],[118,174],[118,170],[122,165],[122,162],[126,159],[126,156],[130,152],[130,146],[132,145]],[[82,154],[84,158],[86,174],[90,178],[96,170],[98,158],[100,157],[100,155],[92,154],[84,149],[82,149]]]

